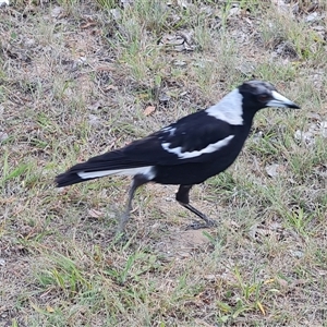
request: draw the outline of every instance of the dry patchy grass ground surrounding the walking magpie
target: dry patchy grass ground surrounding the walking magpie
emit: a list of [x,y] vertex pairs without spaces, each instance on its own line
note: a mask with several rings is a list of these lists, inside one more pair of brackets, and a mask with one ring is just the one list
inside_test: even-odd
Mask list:
[[[235,3],[1,9],[0,326],[326,326],[326,4]],[[259,112],[235,164],[194,186],[217,228],[185,231],[175,186],[149,184],[120,244],[129,179],[53,187],[252,77],[302,110]]]

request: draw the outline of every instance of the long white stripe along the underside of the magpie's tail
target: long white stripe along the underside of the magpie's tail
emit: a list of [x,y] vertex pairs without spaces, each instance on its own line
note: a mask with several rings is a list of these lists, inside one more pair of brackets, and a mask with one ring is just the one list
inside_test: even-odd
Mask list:
[[148,180],[152,180],[155,175],[154,166],[145,166],[137,168],[128,168],[128,169],[113,169],[113,170],[100,170],[100,171],[80,171],[77,175],[83,180],[101,178],[110,174],[121,174],[121,175],[135,175],[135,174],[144,174]]

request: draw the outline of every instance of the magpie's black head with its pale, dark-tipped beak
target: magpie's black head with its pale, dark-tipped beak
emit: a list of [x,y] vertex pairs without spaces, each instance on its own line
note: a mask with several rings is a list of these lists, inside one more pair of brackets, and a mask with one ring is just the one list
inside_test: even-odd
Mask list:
[[239,92],[243,96],[243,107],[252,108],[255,111],[266,107],[300,109],[293,101],[279,94],[268,82],[249,81],[239,86]]

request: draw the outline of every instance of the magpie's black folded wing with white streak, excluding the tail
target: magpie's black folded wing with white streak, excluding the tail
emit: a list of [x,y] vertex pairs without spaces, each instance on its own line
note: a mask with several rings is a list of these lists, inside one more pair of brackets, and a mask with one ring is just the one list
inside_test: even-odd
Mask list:
[[219,152],[231,142],[234,128],[201,111],[134,141],[121,150],[125,159],[141,165],[203,162],[207,160],[206,155]]

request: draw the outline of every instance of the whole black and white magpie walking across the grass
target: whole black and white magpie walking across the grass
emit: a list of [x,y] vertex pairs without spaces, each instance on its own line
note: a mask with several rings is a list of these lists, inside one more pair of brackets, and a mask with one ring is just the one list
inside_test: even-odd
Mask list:
[[57,186],[111,174],[133,175],[119,225],[119,231],[123,232],[137,187],[150,181],[179,184],[175,199],[205,221],[202,227],[210,227],[214,221],[190,204],[189,192],[194,184],[226,170],[235,160],[249,136],[254,114],[265,107],[300,109],[270,83],[245,82],[206,110],[71,167],[56,178]]

